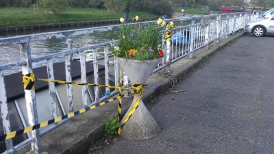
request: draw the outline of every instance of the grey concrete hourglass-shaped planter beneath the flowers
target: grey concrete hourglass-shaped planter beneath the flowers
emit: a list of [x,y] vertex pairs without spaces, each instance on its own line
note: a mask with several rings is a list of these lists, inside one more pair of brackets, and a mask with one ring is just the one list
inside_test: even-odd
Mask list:
[[[118,62],[123,68],[125,74],[129,77],[129,80],[132,81],[132,84],[145,84],[145,81],[151,75],[155,67],[161,62],[162,58],[157,60],[147,60],[141,62],[138,60],[126,60],[124,58],[118,57]],[[134,97],[132,105],[129,107],[129,110],[121,120],[125,120],[125,117],[129,114],[129,111],[132,110],[132,107],[138,97]],[[120,136],[127,140],[145,140],[153,138],[160,133],[160,127],[154,120],[154,118],[145,107],[144,103],[140,102],[137,110],[132,114],[127,123],[122,127]]]

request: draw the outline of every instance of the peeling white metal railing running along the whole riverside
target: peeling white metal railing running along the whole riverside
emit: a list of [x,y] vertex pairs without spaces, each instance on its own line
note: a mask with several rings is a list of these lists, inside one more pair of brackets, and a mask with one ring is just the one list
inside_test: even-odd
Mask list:
[[[212,14],[208,16],[191,16],[177,19],[166,19],[166,22],[175,22],[175,27],[172,30],[173,39],[171,42],[167,42],[164,60],[162,64],[158,66],[154,70],[156,71],[169,66],[169,64],[182,59],[186,55],[192,56],[192,53],[200,49],[201,47],[207,47],[210,42],[216,40],[219,42],[221,38],[226,38],[229,34],[233,34],[235,31],[243,29],[245,24],[251,20],[259,18],[259,14],[253,13],[235,13],[235,14]],[[148,22],[144,22],[148,23]],[[188,25],[186,25],[188,23]],[[65,79],[66,81],[73,81],[72,79],[72,70],[71,70],[71,62],[73,61],[73,55],[79,55],[79,70],[81,70],[81,77],[79,78],[79,82],[88,83],[90,79],[88,79],[86,64],[90,63],[86,60],[86,51],[92,51],[92,66],[93,66],[93,75],[92,75],[92,83],[100,84],[99,78],[101,77],[99,66],[103,66],[103,84],[109,85],[110,81],[114,81],[115,86],[119,86],[119,64],[117,60],[114,60],[114,66],[110,65],[110,59],[112,57],[109,54],[108,48],[110,47],[111,42],[103,42],[100,44],[91,45],[88,47],[81,47],[78,49],[73,49],[72,44],[73,40],[67,40],[68,49],[66,51],[61,51],[58,53],[53,53],[49,55],[45,55],[42,57],[32,58],[32,51],[29,45],[29,42],[36,40],[47,40],[50,38],[68,38],[71,36],[76,36],[80,34],[90,34],[98,31],[110,31],[118,29],[119,25],[113,26],[105,26],[105,27],[95,27],[88,29],[76,29],[69,31],[57,31],[51,33],[43,33],[43,34],[34,34],[27,36],[15,36],[10,38],[0,38],[0,46],[8,46],[10,44],[19,44],[20,51],[18,53],[21,54],[21,61],[14,62],[12,64],[5,64],[0,66],[0,101],[1,101],[1,115],[2,115],[2,125],[3,125],[3,133],[7,134],[12,131],[16,131],[17,129],[22,129],[22,127],[36,125],[41,123],[42,120],[51,120],[52,118],[56,118],[58,116],[64,116],[71,112],[75,112],[79,110],[77,105],[75,104],[75,95],[77,92],[75,88],[71,85],[66,85],[63,87],[63,91],[66,91],[66,99],[62,99],[60,96],[60,90],[57,85],[50,83],[48,84],[49,88],[47,91],[47,98],[49,100],[49,108],[50,112],[47,113],[50,116],[47,118],[40,117],[40,103],[37,102],[38,95],[36,92],[32,90],[25,90],[25,98],[23,99],[14,99],[8,102],[8,98],[6,96],[6,88],[5,88],[5,77],[7,76],[5,71],[8,71],[10,68],[21,67],[20,72],[23,75],[27,75],[29,73],[33,73],[33,64],[36,62],[43,62],[47,67],[47,77],[48,79],[55,79],[54,72],[59,70],[65,71]],[[175,39],[175,36],[178,37]],[[119,40],[116,40],[119,41]],[[103,57],[98,57],[98,51],[103,51]],[[64,59],[64,68],[58,68],[58,70],[54,69],[54,60],[56,58]],[[100,64],[99,64],[100,63]],[[113,79],[112,79],[113,78]],[[123,79],[127,79],[126,76]],[[124,81],[124,85],[127,86],[129,81]],[[95,87],[87,88],[86,86],[82,86],[82,107],[95,105],[101,101],[105,101],[110,97],[114,96],[118,92],[116,90],[110,91],[110,88],[103,88],[103,91],[108,95],[102,96],[100,92],[101,89]],[[37,92],[38,93],[38,92]],[[44,94],[45,95],[45,94]],[[36,97],[37,96],[37,97]],[[24,101],[25,100],[25,101]],[[64,103],[64,101],[66,103]],[[79,100],[78,100],[79,101]],[[19,113],[19,117],[22,120],[22,123],[25,125],[18,127],[17,129],[11,128],[11,119],[9,106],[16,106],[16,110]],[[27,115],[24,116],[22,112],[22,108],[27,110]],[[58,112],[60,111],[60,112]],[[20,114],[21,113],[21,114]],[[45,114],[43,114],[45,115]],[[24,117],[22,117],[24,116]],[[38,120],[39,119],[39,120]],[[42,119],[42,120],[41,120]],[[26,120],[26,121],[24,121]],[[42,129],[39,132],[39,129],[32,131],[27,136],[27,139],[14,146],[12,139],[5,140],[6,151],[4,153],[16,153],[16,151],[23,148],[27,144],[32,143],[32,149],[36,153],[41,153],[40,149],[40,136],[43,136],[47,131],[54,129],[58,125],[62,125],[65,121],[62,120],[57,125],[50,125],[46,129]]]

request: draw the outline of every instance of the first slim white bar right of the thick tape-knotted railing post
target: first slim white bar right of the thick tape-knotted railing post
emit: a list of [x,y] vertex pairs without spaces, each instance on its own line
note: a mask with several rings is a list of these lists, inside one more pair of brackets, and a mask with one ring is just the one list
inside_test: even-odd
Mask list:
[[[53,60],[47,60],[47,77],[48,79],[54,79],[53,75]],[[55,93],[55,84],[53,82],[49,82],[49,101],[51,102],[51,116],[52,118],[57,117],[57,98]]]

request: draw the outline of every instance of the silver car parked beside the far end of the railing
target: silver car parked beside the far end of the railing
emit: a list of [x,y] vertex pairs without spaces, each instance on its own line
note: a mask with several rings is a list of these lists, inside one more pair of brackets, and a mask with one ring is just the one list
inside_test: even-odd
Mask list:
[[254,36],[261,37],[264,34],[274,33],[274,16],[251,21],[245,25],[245,29]]

